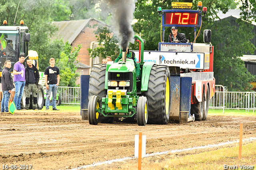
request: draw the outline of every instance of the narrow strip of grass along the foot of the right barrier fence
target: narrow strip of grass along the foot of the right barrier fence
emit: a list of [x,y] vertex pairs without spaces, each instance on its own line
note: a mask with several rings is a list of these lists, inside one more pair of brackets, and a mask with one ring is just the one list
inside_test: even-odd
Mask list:
[[222,109],[209,109],[208,115],[219,115],[219,116],[256,116],[256,111],[253,112],[249,110],[249,112],[245,110],[236,110],[236,109],[224,109],[224,113]]

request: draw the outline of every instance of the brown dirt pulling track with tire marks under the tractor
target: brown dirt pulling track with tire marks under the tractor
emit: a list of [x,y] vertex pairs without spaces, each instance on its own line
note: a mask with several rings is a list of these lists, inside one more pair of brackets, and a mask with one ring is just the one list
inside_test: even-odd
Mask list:
[[133,157],[138,132],[146,135],[146,153],[218,144],[238,140],[240,123],[244,123],[243,138],[256,137],[256,117],[208,115],[201,122],[139,127],[135,123],[89,125],[80,113],[61,111],[1,114],[0,169],[3,164],[32,164],[35,170],[63,170]]

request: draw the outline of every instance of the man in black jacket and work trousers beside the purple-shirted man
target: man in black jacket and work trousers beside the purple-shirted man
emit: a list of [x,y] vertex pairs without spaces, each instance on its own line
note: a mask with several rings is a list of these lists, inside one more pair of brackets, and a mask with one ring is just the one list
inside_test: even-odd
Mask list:
[[27,59],[27,67],[25,68],[25,92],[26,92],[26,105],[25,109],[28,110],[30,106],[30,93],[32,91],[33,96],[33,109],[37,109],[37,86],[39,81],[39,72],[38,69],[32,64],[31,59]]

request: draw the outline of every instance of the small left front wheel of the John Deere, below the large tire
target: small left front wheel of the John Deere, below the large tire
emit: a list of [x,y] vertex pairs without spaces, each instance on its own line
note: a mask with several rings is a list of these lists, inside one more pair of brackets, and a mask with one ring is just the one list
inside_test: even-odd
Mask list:
[[96,95],[91,96],[88,103],[88,119],[90,125],[98,125],[100,113],[96,109],[99,107],[101,107],[99,97]]

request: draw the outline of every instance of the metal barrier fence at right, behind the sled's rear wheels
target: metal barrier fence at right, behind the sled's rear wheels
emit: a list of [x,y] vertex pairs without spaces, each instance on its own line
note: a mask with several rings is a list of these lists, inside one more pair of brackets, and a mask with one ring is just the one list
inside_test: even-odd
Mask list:
[[256,109],[256,92],[227,91],[222,85],[215,85],[215,94],[210,100],[210,109]]

